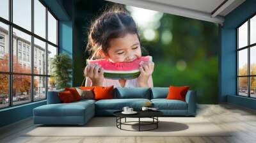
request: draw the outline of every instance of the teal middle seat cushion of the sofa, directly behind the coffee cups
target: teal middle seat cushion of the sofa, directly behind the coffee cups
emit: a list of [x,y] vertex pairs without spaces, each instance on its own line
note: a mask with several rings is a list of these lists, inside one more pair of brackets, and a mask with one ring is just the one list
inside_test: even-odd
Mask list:
[[99,100],[95,102],[95,109],[100,110],[122,110],[123,107],[128,106],[135,110],[141,109],[146,102],[150,102],[148,99],[111,99],[111,100]]

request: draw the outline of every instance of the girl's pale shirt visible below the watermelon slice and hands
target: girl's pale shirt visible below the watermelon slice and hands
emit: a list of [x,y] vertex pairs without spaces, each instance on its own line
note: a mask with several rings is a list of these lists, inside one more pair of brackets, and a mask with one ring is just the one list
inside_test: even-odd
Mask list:
[[[86,77],[86,82],[85,86],[92,86],[92,80],[90,78]],[[122,87],[118,79],[103,79],[103,84],[102,86],[107,87],[107,86],[114,86],[115,87]],[[138,78],[136,79],[127,79],[125,81],[124,87],[139,87],[138,86]],[[153,80],[152,76],[148,79],[148,87],[153,87]]]

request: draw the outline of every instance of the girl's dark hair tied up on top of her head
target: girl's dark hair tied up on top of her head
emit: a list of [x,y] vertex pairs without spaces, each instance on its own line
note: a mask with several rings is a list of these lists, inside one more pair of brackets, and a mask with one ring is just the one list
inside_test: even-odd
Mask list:
[[[124,6],[114,5],[91,24],[88,31],[88,44],[86,46],[86,50],[92,53],[90,59],[104,58],[99,53],[100,47],[104,54],[107,54],[109,40],[112,38],[122,38],[127,33],[137,34],[140,40],[138,27],[129,13],[124,10]],[[141,50],[145,49],[141,47]]]

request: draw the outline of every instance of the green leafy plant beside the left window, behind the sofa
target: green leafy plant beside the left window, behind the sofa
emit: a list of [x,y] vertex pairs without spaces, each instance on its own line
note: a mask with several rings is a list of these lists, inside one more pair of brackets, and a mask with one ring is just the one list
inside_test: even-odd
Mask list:
[[51,59],[52,78],[55,80],[56,89],[70,87],[72,59],[67,54],[59,54]]

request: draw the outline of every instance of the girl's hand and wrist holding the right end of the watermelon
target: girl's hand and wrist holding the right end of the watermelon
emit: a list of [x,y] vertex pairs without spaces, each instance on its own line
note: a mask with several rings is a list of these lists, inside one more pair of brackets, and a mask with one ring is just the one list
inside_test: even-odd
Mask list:
[[140,76],[138,77],[139,87],[148,87],[148,79],[154,72],[154,62],[147,61],[140,63]]

